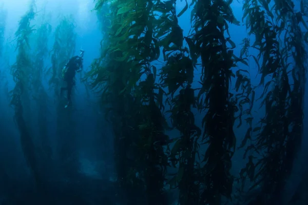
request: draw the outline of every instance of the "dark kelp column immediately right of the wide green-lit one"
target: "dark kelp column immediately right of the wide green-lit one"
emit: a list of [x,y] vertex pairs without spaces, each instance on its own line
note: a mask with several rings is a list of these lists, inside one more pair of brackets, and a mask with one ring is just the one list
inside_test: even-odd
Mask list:
[[[187,7],[178,14],[181,16]],[[185,55],[183,48],[183,30],[178,25],[176,1],[157,5],[162,15],[155,20],[155,37],[163,47],[166,64],[160,70],[162,88],[168,90],[168,104],[172,126],[179,130],[180,136],[174,138],[175,144],[169,152],[172,166],[178,173],[169,180],[170,188],[179,188],[179,204],[199,204],[200,183],[196,169],[196,156],[199,149],[198,139],[201,130],[195,125],[195,116],[191,107],[197,108],[194,89],[194,63]],[[177,94],[179,92],[179,94]],[[165,92],[160,89],[160,100]],[[176,94],[176,96],[175,96]],[[173,141],[172,140],[172,141]]]

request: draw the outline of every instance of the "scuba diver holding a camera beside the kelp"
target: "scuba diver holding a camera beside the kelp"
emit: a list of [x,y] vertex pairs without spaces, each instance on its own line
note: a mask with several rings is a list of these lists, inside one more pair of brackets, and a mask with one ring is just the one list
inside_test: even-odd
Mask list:
[[72,94],[72,88],[75,85],[75,74],[76,72],[80,72],[83,69],[83,56],[84,56],[84,50],[80,49],[80,56],[76,55],[73,56],[71,59],[69,59],[68,63],[64,66],[62,70],[62,79],[66,81],[67,86],[65,88],[61,88],[60,95],[62,96],[62,93],[64,90],[67,90],[67,105],[65,108],[68,106],[72,105],[71,101],[71,94]]

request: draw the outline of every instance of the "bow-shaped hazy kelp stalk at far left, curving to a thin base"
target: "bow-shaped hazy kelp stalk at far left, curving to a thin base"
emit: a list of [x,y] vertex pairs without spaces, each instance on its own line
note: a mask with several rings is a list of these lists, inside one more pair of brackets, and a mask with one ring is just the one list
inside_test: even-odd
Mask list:
[[[22,101],[23,96],[27,94],[24,91],[28,89],[28,73],[29,69],[32,68],[31,58],[29,56],[28,40],[33,31],[33,28],[30,27],[30,22],[35,15],[34,9],[35,4],[32,2],[30,9],[20,20],[18,30],[15,32],[15,36],[17,38],[17,56],[15,64],[11,67],[11,73],[15,82],[15,87],[11,91],[11,105],[14,108],[14,120],[18,130],[20,131],[20,140],[25,159],[31,169],[32,174],[34,175],[36,185],[40,186],[40,176],[37,169],[35,148],[29,132],[29,127],[27,127],[25,122],[24,104]],[[27,98],[29,98],[29,96]]]

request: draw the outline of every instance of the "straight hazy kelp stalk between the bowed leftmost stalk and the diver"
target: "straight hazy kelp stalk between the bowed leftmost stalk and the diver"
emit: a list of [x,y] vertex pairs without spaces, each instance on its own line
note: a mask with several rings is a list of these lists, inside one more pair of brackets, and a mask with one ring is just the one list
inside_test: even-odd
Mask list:
[[[44,11],[45,12],[45,11]],[[39,143],[38,147],[41,149],[41,169],[48,169],[51,165],[51,152],[48,141],[48,122],[47,114],[48,110],[48,95],[45,91],[43,79],[45,74],[44,61],[48,57],[48,37],[51,33],[51,25],[46,22],[45,13],[42,15],[42,24],[37,28],[33,41],[35,42],[35,48],[33,55],[33,96],[37,104],[37,125],[38,125],[38,138],[37,142]]]

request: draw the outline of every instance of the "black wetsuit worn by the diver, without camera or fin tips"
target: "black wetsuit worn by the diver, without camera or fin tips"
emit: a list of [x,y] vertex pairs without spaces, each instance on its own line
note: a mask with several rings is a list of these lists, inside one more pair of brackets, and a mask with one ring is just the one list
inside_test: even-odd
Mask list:
[[71,94],[72,94],[72,88],[74,86],[74,77],[76,74],[76,70],[83,68],[83,58],[76,55],[72,57],[68,63],[66,64],[67,71],[64,75],[64,80],[67,82],[67,87],[61,88],[61,94],[64,90],[67,90],[67,99],[68,104],[71,104]]

